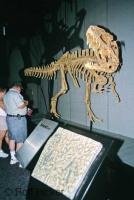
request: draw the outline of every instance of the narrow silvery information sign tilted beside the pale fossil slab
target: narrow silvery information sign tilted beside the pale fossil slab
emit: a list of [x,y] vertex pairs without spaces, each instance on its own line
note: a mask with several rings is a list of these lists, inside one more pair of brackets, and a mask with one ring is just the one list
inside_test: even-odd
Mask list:
[[16,152],[16,157],[23,168],[28,166],[57,126],[57,122],[45,118],[39,122],[23,146]]

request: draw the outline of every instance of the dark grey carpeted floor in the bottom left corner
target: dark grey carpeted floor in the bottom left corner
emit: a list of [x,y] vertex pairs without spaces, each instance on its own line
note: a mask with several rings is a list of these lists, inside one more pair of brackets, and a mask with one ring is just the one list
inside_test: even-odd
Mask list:
[[0,158],[0,199],[25,200],[30,172],[9,162],[10,157]]

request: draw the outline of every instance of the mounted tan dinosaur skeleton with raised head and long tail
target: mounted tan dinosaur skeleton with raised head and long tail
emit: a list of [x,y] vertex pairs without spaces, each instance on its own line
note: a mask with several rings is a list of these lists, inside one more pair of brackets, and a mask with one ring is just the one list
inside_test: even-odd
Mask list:
[[100,121],[91,109],[91,92],[102,93],[104,90],[112,91],[120,101],[116,92],[114,75],[118,71],[119,47],[111,33],[101,27],[90,26],[86,32],[89,49],[66,52],[58,61],[42,67],[30,67],[24,70],[25,76],[52,79],[56,72],[61,73],[61,89],[51,98],[50,113],[55,117],[57,113],[58,98],[68,91],[66,74],[69,73],[75,86],[79,86],[78,78],[86,82],[85,103],[87,114],[91,121]]

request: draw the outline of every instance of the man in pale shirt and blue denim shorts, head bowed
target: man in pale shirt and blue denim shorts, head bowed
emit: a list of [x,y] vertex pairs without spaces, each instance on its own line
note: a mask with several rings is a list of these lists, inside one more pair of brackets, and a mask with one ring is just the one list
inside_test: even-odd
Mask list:
[[18,162],[15,157],[15,152],[23,145],[27,138],[26,114],[28,101],[23,99],[21,90],[21,83],[14,83],[4,96],[4,104],[7,112],[11,165]]

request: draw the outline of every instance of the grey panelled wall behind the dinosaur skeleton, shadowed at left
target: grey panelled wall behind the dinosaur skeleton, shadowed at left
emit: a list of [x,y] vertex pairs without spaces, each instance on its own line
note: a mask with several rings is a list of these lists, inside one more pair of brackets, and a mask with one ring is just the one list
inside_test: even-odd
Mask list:
[[[15,30],[9,29],[9,37],[7,33],[4,41],[8,46],[6,61],[3,61],[3,56],[0,55],[1,65],[6,66],[8,60],[9,82],[16,79],[26,81],[27,93],[33,100],[33,106],[45,114],[49,110],[49,98],[60,89],[59,74],[54,82],[35,78],[25,79],[24,68],[46,65],[68,50],[87,48],[87,28],[94,24],[107,27],[122,43],[123,65],[115,76],[121,102],[117,103],[111,93],[92,94],[92,108],[95,114],[103,119],[103,122],[93,124],[93,128],[134,138],[134,1],[50,2],[49,7],[40,8],[40,15],[40,10],[37,9],[37,13],[34,10],[33,18],[30,14],[26,16],[32,21],[29,23],[28,19],[25,19],[23,23],[27,24],[27,27],[18,19],[19,37],[13,37]],[[64,120],[90,126],[84,103],[85,83],[79,80],[80,88],[76,88],[69,76],[67,79],[69,91],[59,98],[59,113]]]

